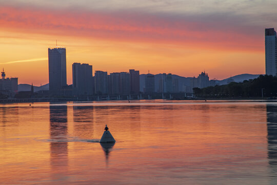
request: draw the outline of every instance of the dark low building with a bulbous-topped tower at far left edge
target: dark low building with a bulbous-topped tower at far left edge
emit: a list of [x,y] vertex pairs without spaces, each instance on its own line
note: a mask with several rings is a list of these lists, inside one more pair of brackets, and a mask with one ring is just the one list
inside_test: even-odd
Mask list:
[[3,69],[0,79],[0,93],[8,96],[14,96],[18,91],[18,78],[6,78],[6,73]]

